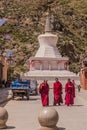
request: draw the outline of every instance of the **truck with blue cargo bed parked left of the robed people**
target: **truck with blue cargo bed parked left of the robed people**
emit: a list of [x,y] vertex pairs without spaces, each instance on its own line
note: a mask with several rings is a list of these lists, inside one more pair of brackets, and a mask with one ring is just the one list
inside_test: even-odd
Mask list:
[[17,96],[24,98],[24,96],[27,97],[27,100],[29,100],[30,95],[37,95],[37,81],[36,80],[15,80],[11,83],[10,88],[13,92],[13,99]]

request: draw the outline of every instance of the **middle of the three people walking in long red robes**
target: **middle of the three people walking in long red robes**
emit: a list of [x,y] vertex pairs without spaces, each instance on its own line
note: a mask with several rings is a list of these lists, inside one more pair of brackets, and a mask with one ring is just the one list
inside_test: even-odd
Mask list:
[[53,94],[54,94],[54,104],[53,105],[60,105],[60,103],[63,103],[62,99],[62,84],[58,81],[58,78],[55,79],[55,82],[53,84]]

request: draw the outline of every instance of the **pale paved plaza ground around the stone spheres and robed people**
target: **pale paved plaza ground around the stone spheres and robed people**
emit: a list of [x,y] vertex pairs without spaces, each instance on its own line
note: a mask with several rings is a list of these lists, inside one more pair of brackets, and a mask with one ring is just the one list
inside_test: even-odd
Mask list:
[[[87,130],[87,91],[76,90],[74,106],[53,106],[53,92],[50,89],[50,105],[59,113],[59,130]],[[64,95],[63,95],[64,99]],[[4,106],[9,113],[7,130],[38,130],[38,114],[42,109],[40,96],[30,96],[30,100],[11,100]]]

